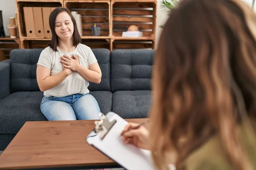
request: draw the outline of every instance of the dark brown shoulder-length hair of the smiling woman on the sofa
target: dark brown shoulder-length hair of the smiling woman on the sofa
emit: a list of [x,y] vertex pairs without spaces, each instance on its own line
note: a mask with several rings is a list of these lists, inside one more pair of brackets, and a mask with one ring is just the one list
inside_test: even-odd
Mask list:
[[58,8],[55,8],[51,12],[50,17],[49,17],[49,25],[50,25],[50,28],[52,31],[52,40],[49,42],[49,46],[52,48],[53,51],[57,51],[57,45],[58,45],[58,37],[55,32],[55,19],[56,19],[57,15],[61,12],[67,12],[70,15],[71,20],[73,22],[73,26],[74,26],[73,45],[77,46],[81,42],[81,37],[80,37],[79,31],[76,26],[76,20],[73,17],[73,15],[71,14],[70,10],[67,8],[58,7]]

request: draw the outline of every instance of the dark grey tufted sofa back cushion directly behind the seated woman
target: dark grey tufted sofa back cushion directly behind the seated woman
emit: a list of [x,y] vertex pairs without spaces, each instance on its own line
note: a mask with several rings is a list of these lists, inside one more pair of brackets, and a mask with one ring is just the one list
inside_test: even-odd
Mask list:
[[[42,49],[14,49],[11,57],[11,92],[40,91],[36,80],[36,63]],[[107,49],[92,49],[102,70],[102,81],[91,83],[90,91],[110,91],[110,51]]]

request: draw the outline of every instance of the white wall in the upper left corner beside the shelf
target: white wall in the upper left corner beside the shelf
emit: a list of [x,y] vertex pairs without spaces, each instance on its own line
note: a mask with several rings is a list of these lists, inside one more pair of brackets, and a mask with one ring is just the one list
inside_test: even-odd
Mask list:
[[17,11],[15,0],[0,0],[0,11],[3,13],[4,31],[6,35],[10,35],[7,26],[9,25],[9,18],[15,17]]

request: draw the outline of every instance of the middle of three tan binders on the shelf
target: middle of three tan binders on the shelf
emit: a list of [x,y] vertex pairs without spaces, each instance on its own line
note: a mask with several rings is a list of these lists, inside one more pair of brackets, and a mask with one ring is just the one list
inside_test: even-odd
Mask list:
[[35,36],[44,37],[44,23],[42,7],[33,7],[34,23],[35,23]]

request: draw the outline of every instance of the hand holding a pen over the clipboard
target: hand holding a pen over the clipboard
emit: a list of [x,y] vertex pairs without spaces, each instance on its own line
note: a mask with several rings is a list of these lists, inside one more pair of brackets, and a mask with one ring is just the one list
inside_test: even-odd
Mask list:
[[132,129],[137,125],[139,124],[128,123],[128,125],[125,126],[125,129],[121,133],[123,140],[126,144],[134,144],[137,147],[149,150],[149,132],[144,126],[140,126],[137,129]]

